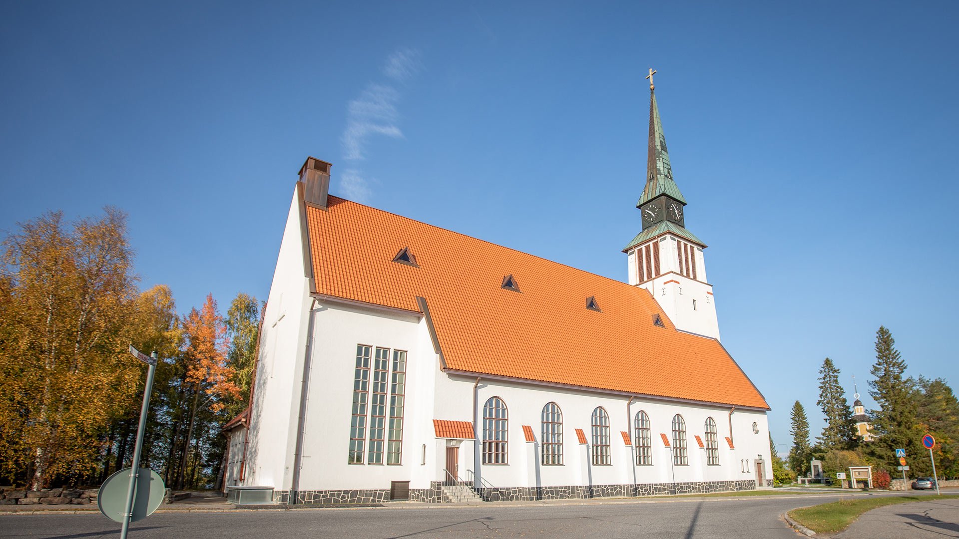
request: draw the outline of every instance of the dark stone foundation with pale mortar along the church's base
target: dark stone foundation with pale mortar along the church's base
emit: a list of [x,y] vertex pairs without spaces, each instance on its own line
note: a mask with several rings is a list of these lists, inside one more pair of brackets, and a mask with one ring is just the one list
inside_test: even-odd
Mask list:
[[[442,485],[442,481],[432,481],[430,488],[410,488],[409,501],[428,504],[445,502]],[[531,502],[534,500],[639,498],[664,494],[707,494],[755,489],[756,480],[730,480],[592,486],[511,486],[479,488],[477,493],[484,502]],[[279,504],[289,504],[290,491],[276,491],[275,500]],[[383,504],[389,501],[389,489],[301,490],[296,497],[296,504]]]

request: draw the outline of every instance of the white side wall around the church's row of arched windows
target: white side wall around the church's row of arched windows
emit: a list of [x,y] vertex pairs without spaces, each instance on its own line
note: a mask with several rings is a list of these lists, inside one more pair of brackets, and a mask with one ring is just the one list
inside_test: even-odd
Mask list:
[[[442,419],[466,420],[473,414],[473,384],[476,378],[466,376],[447,376],[440,373],[436,383],[437,417]],[[628,397],[614,396],[603,393],[543,387],[531,384],[512,383],[482,378],[477,389],[477,415],[474,419],[479,426],[479,453],[481,454],[482,437],[482,408],[486,400],[493,396],[503,399],[508,410],[507,425],[507,455],[508,464],[482,464],[481,455],[476,459],[464,460],[467,453],[472,454],[472,442],[464,441],[461,445],[460,470],[463,462],[468,462],[464,478],[469,477],[470,471],[479,468],[482,486],[525,487],[525,486],[564,486],[575,484],[630,484],[630,483],[670,483],[690,481],[720,481],[720,480],[752,480],[754,474],[741,472],[738,462],[739,453],[761,453],[761,447],[746,439],[748,436],[757,436],[751,431],[753,421],[760,425],[760,434],[765,430],[765,413],[737,410],[734,413],[733,437],[743,439],[743,446],[737,450],[729,449],[725,437],[730,435],[727,413],[729,408],[708,407],[694,404],[672,403],[652,399],[634,399],[629,405],[627,419]],[[543,407],[555,402],[563,411],[563,454],[562,465],[544,465],[540,460],[542,442],[541,414]],[[442,404],[440,404],[442,403]],[[596,407],[603,407],[610,417],[610,450],[611,465],[595,465],[592,463],[592,413]],[[650,418],[652,437],[651,466],[635,464],[635,446],[626,446],[620,432],[629,433],[635,443],[633,421],[639,410],[644,410]],[[673,416],[679,413],[687,425],[688,465],[672,465],[671,450],[665,447],[662,434],[666,434],[672,442],[671,422]],[[750,417],[747,421],[745,418]],[[705,423],[707,417],[713,417],[719,441],[719,465],[706,464],[706,452],[700,449],[694,435],[706,440]],[[532,428],[536,442],[526,442],[523,425]],[[589,444],[579,444],[575,429],[582,429]],[[761,437],[761,435],[759,436]],[[766,438],[768,439],[768,434]],[[439,444],[437,444],[439,445]],[[530,451],[529,446],[535,445]],[[768,445],[768,443],[766,444]],[[765,455],[768,461],[768,450]],[[444,457],[437,455],[441,460]],[[534,458],[535,457],[535,458]],[[753,455],[750,458],[755,458]],[[442,474],[442,462],[436,463],[439,480]],[[538,480],[537,480],[538,479]]]

